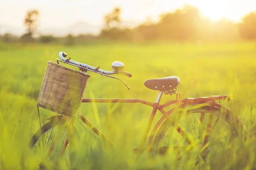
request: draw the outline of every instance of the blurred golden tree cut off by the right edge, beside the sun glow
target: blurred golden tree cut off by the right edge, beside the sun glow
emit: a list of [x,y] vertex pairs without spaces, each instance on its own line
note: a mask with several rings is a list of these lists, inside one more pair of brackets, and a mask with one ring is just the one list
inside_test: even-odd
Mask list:
[[256,12],[251,12],[242,18],[239,31],[244,39],[256,40]]

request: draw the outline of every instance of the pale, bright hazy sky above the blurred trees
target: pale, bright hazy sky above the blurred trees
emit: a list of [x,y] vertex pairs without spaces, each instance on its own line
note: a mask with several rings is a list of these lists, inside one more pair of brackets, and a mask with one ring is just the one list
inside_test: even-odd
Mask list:
[[[26,11],[40,12],[39,27],[64,28],[79,22],[102,26],[103,17],[114,7],[122,9],[122,20],[139,23],[150,17],[192,5],[211,20],[227,18],[239,22],[245,14],[256,11],[256,0],[0,0],[0,26],[23,28]],[[1,28],[0,28],[1,29]]]

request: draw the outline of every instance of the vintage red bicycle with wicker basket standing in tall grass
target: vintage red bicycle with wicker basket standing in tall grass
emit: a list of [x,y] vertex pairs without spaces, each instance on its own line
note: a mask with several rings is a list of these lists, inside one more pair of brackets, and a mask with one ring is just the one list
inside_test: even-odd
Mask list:
[[[113,145],[97,127],[79,113],[81,103],[120,102],[151,106],[152,111],[140,144],[133,148],[136,157],[142,152],[165,155],[169,149],[174,149],[178,154],[191,146],[201,147],[202,153],[209,153],[221,147],[229,139],[238,136],[241,130],[247,132],[239,117],[218,103],[221,100],[231,100],[229,95],[180,99],[180,93],[176,93],[180,79],[176,76],[148,79],[144,82],[147,88],[159,91],[155,102],[143,99],[82,99],[90,77],[87,71],[114,79],[119,78],[111,76],[113,74],[123,74],[127,77],[132,77],[132,74],[123,71],[122,62],[113,62],[113,71],[105,71],[70,58],[66,59],[67,54],[62,51],[59,57],[61,59],[56,59],[57,63],[48,61],[37,104],[38,107],[54,111],[57,115],[49,117],[47,119],[49,122],[41,126],[38,108],[41,128],[30,140],[32,151],[40,153],[40,158],[38,157],[40,168],[57,164],[60,157],[69,160],[69,167],[76,167],[75,161],[72,160],[76,158],[76,150],[79,149],[76,147],[79,138],[76,121],[84,122],[104,142]],[[76,66],[80,71],[59,65],[59,62]],[[119,80],[129,89],[122,79]],[[176,99],[160,104],[163,94],[176,94]],[[170,106],[171,109],[167,111],[166,108]],[[150,131],[157,111],[160,111],[162,116]]]

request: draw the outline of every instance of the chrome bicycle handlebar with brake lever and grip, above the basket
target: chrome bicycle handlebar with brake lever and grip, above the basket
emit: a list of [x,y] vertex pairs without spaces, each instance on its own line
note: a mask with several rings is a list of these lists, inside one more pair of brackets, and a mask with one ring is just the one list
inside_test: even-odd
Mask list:
[[95,68],[95,67],[90,66],[88,64],[84,64],[84,63],[81,63],[81,62],[76,62],[74,60],[71,60],[71,58],[66,59],[65,57],[67,57],[67,53],[65,53],[63,51],[59,52],[59,57],[61,58],[61,60],[60,59],[56,59],[57,61],[64,62],[66,64],[70,64],[70,65],[76,66],[76,67],[78,67],[80,70],[82,70],[84,72],[86,72],[88,70],[88,71],[92,71],[94,73],[98,73],[98,74],[101,74],[101,75],[104,75],[104,76],[107,76],[107,77],[111,77],[113,79],[119,79],[119,80],[121,80],[125,84],[125,86],[128,88],[128,90],[130,90],[128,85],[122,79],[110,76],[112,74],[122,74],[122,75],[125,75],[127,77],[132,77],[132,74],[127,72],[127,71],[123,71],[123,70],[105,71],[105,70],[100,69],[99,67]]

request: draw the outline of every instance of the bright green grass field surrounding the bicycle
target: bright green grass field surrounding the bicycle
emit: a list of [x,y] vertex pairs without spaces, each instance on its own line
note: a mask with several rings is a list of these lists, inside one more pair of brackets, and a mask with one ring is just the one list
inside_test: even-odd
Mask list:
[[[98,45],[19,45],[0,44],[0,169],[33,169],[28,141],[39,128],[36,103],[47,61],[55,61],[65,51],[71,59],[111,70],[113,61],[124,62],[133,77],[122,82],[89,73],[84,98],[141,98],[154,102],[157,91],[149,90],[146,79],[178,76],[182,98],[230,94],[235,101],[226,103],[246,125],[256,131],[256,47],[254,43],[220,44],[125,44]],[[69,68],[74,68],[68,66]],[[78,68],[74,68],[77,69]],[[164,95],[161,103],[175,99]],[[79,127],[84,169],[201,169],[195,158],[176,161],[146,159],[134,162],[131,147],[137,147],[145,130],[151,108],[141,104],[82,104],[80,112],[99,127],[114,143],[113,149]],[[43,123],[55,113],[41,109]],[[157,113],[156,119],[161,116]],[[155,122],[156,120],[154,120]],[[255,169],[256,139],[227,144],[219,154],[209,154],[205,169]],[[170,166],[164,166],[168,163]]]

